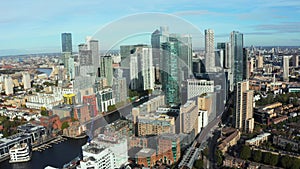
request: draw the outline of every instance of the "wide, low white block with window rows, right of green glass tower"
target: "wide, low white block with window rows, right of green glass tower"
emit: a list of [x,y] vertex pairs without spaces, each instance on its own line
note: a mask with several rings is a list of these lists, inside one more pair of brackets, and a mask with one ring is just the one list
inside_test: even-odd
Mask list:
[[200,96],[203,93],[214,92],[214,81],[188,79],[187,99]]

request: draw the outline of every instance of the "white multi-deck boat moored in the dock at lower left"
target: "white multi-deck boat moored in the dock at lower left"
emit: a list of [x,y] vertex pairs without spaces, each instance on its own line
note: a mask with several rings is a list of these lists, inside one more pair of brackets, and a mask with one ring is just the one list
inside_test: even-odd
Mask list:
[[15,144],[9,149],[9,163],[27,162],[31,160],[31,150],[27,143]]

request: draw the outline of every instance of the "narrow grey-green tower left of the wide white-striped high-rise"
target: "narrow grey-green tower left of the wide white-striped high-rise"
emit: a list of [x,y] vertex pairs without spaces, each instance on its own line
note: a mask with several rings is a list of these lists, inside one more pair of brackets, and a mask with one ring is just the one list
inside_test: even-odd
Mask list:
[[112,87],[113,85],[113,68],[111,56],[100,57],[100,77],[107,79],[107,85]]

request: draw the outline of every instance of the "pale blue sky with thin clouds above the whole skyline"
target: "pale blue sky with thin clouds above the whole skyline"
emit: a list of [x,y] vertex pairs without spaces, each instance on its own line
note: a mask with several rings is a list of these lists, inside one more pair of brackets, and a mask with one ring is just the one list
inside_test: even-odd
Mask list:
[[300,1],[2,1],[0,56],[60,52],[63,32],[72,33],[74,51],[86,36],[98,39],[100,49],[121,42],[149,43],[150,33],[160,25],[191,33],[193,46],[203,46],[208,28],[214,30],[215,42],[229,41],[235,30],[244,34],[245,46],[299,46]]

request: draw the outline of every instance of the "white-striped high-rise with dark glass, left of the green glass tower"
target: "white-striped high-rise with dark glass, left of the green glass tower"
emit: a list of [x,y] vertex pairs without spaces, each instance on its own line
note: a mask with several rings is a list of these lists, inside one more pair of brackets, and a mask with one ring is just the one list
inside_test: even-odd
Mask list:
[[135,45],[130,55],[130,88],[133,90],[154,89],[152,48]]

